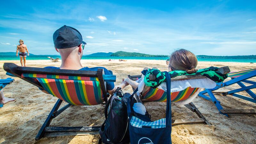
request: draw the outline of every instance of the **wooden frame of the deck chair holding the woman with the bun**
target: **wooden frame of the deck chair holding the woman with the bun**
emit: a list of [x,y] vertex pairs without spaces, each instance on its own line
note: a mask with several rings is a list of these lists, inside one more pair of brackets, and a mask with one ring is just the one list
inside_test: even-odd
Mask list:
[[[219,68],[217,71],[219,71],[221,74],[227,74],[230,72],[229,68],[228,67],[221,67]],[[128,75],[128,77],[131,79],[131,80],[137,80],[141,77],[141,75],[137,75],[137,76],[131,76],[131,75]],[[174,78],[171,78],[171,81],[177,81],[177,80],[186,80],[186,79],[197,79],[197,78],[205,78],[205,76],[203,75],[184,75],[184,76],[176,76]],[[153,81],[155,80],[156,77],[154,75],[149,75],[149,80]],[[145,86],[146,87],[146,86]],[[145,89],[144,87],[144,89]],[[134,91],[135,89],[132,88],[132,90]],[[142,100],[142,101],[147,101],[147,100]],[[175,124],[191,124],[191,123],[204,123],[204,124],[208,124],[208,125],[211,125],[207,119],[203,116],[203,114],[198,110],[198,108],[196,108],[196,106],[193,104],[193,102],[190,102],[186,105],[184,105],[185,107],[187,107],[189,110],[191,110],[192,112],[195,112],[196,115],[199,117],[199,118],[193,118],[193,119],[176,119],[176,120],[172,120],[172,125],[175,125]]]

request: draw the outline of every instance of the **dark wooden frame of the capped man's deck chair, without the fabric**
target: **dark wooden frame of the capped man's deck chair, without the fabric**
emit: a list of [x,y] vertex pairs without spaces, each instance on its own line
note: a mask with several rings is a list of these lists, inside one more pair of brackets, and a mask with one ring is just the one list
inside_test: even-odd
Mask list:
[[[104,101],[107,101],[109,96],[104,84],[105,81],[115,82],[116,76],[104,75],[104,70],[98,68],[98,71],[84,71],[84,70],[67,70],[67,69],[50,69],[50,68],[31,68],[31,67],[19,67],[14,63],[4,63],[4,70],[16,77],[19,77],[30,84],[33,84],[41,89],[43,86],[31,78],[21,77],[22,73],[30,74],[43,74],[43,75],[59,75],[59,76],[85,76],[85,77],[98,77],[100,82],[100,87],[104,96]],[[113,78],[114,77],[114,78]],[[35,140],[45,137],[56,137],[56,136],[66,136],[66,135],[88,135],[88,134],[98,134],[100,126],[79,126],[79,127],[49,127],[51,121],[56,116],[60,115],[64,110],[69,108],[71,104],[67,104],[60,108],[60,104],[63,100],[58,99],[53,106],[50,114],[47,116],[43,126],[40,128]],[[60,108],[60,109],[59,109]]]

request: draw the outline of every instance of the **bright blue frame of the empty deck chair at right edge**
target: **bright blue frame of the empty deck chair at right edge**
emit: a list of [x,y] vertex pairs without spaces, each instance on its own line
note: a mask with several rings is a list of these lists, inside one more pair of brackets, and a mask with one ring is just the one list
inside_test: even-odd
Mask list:
[[[204,91],[200,92],[198,94],[198,96],[200,96],[200,97],[202,97],[202,98],[204,98],[206,100],[212,100],[212,102],[215,104],[215,106],[220,111],[220,114],[223,114],[223,115],[228,117],[228,114],[221,112],[221,110],[223,110],[223,108],[220,105],[220,101],[217,100],[216,97],[213,95],[212,91],[218,90],[221,87],[229,86],[229,85],[232,85],[232,84],[238,84],[241,88],[236,89],[236,90],[231,90],[231,91],[228,91],[228,92],[224,92],[222,94],[223,95],[229,94],[229,95],[232,95],[232,96],[235,96],[235,97],[238,97],[238,98],[241,98],[241,99],[248,100],[248,101],[251,101],[253,103],[256,103],[256,94],[253,93],[250,90],[250,89],[256,88],[256,82],[247,80],[247,79],[252,78],[254,76],[256,76],[256,70],[254,70],[254,71],[252,71],[252,72],[250,72],[248,74],[245,74],[243,76],[239,76],[237,78],[231,78],[231,80],[229,80],[229,81],[227,81],[225,83],[217,83],[215,88],[213,88],[213,89],[205,89]],[[252,85],[245,86],[242,82],[243,83],[252,84]],[[249,98],[249,97],[246,97],[246,96],[243,96],[243,95],[240,95],[240,94],[236,94],[237,92],[242,92],[242,91],[247,92],[252,98]],[[206,93],[208,93],[208,95],[210,97],[204,95]]]

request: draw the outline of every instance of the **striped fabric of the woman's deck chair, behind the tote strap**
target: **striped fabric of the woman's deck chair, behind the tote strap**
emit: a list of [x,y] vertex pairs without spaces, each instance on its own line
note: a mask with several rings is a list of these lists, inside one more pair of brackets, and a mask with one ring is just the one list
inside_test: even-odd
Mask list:
[[[195,92],[197,92],[199,88],[191,88],[188,87],[184,89],[183,91],[180,92],[171,92],[171,101],[172,102],[177,102],[180,100],[186,100],[188,97],[193,95]],[[148,92],[145,92],[143,94],[144,99],[149,100],[149,101],[160,101],[160,102],[166,102],[166,95],[167,93],[162,90],[162,89],[153,89],[150,88]]]

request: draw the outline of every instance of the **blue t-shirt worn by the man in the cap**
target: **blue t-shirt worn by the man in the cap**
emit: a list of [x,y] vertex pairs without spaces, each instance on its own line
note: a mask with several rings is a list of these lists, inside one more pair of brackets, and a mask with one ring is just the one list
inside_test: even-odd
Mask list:
[[[45,67],[45,68],[55,68],[55,69],[60,69],[60,68],[58,68],[58,67],[51,67],[51,66],[49,66],[49,67]],[[85,68],[81,68],[81,69],[79,69],[79,70],[97,71],[97,70],[98,70],[98,68],[103,68],[103,67],[94,67],[94,68],[88,68],[88,67],[85,67]],[[104,69],[104,74],[105,74],[105,75],[113,75],[112,73],[110,73],[110,72],[108,71],[108,69],[107,69],[107,68],[103,68],[103,69]],[[115,87],[114,82],[106,82],[106,85],[107,85],[107,90],[108,90],[108,91],[113,90],[113,89],[114,89],[114,87]]]

